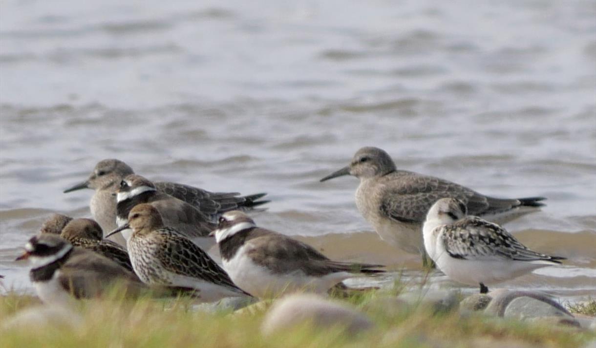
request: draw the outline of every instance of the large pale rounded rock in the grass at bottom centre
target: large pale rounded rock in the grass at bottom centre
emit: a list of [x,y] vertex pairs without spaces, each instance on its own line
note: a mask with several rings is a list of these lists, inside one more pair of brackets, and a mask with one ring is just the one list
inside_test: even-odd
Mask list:
[[314,294],[293,294],[277,300],[265,315],[261,331],[265,335],[311,322],[317,328],[343,326],[355,334],[373,327],[364,313],[347,303],[324,299]]

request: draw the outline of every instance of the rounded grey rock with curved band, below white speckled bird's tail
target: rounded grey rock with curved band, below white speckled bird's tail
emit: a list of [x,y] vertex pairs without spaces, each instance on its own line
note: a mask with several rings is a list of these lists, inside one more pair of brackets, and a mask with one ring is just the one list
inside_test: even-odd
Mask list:
[[546,294],[500,289],[492,291],[489,296],[492,297],[492,300],[484,310],[489,315],[521,319],[537,316],[569,316],[573,318],[573,315],[561,304]]

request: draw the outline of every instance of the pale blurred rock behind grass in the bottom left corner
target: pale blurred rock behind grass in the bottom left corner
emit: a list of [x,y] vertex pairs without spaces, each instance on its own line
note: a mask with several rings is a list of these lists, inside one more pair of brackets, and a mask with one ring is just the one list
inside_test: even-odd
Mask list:
[[29,329],[41,328],[70,328],[75,329],[82,323],[78,313],[65,307],[58,306],[33,306],[15,313],[2,323],[2,329]]

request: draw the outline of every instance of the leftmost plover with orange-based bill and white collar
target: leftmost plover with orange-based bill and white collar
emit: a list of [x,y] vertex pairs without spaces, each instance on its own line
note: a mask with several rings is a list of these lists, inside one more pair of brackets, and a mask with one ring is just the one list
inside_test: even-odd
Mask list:
[[55,234],[32,237],[17,260],[29,259],[29,276],[44,303],[66,303],[100,297],[114,285],[138,294],[145,285],[117,263],[89,250],[73,247]]

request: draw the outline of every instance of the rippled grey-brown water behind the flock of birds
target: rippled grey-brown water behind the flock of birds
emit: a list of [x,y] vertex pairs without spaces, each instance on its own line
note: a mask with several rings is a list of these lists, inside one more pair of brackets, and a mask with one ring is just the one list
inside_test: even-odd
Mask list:
[[[569,257],[507,282],[596,296],[594,1],[3,1],[0,272],[62,194],[117,157],[151,179],[269,192],[257,223],[420,276],[318,179],[361,146],[485,194],[544,195],[507,225]],[[385,279],[387,281],[387,279]],[[437,286],[457,286],[434,276]]]

